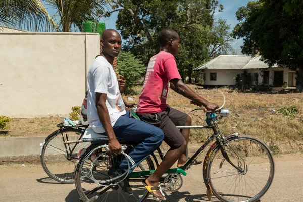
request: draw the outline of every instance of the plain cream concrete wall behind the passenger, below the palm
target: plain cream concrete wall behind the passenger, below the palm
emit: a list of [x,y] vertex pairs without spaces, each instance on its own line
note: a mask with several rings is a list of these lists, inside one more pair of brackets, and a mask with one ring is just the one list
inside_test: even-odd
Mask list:
[[0,32],[0,115],[66,116],[82,104],[98,33]]

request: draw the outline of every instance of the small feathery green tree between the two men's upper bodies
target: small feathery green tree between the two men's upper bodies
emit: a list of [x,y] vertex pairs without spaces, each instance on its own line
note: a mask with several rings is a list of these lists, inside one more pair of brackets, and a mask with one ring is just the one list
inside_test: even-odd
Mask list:
[[119,74],[126,79],[125,93],[130,93],[132,87],[145,75],[146,67],[142,61],[135,58],[130,52],[121,51],[117,58],[117,69]]

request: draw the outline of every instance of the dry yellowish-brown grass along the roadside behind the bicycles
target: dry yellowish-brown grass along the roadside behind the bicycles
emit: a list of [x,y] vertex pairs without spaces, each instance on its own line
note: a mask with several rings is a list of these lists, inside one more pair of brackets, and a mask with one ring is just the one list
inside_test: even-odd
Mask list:
[[[219,127],[223,134],[238,132],[258,137],[269,147],[278,153],[279,151],[303,150],[303,94],[269,94],[246,92],[239,93],[229,89],[206,90],[196,85],[189,85],[197,94],[211,102],[223,103],[226,97],[225,108],[230,110],[230,116],[219,121]],[[131,96],[138,102],[142,86],[134,90],[137,95]],[[190,112],[196,106],[190,105],[187,98],[169,91],[168,104],[188,113],[192,118],[192,125],[205,125],[205,114],[202,111]],[[286,118],[278,113],[282,107],[296,106],[299,113],[295,118]],[[272,111],[274,109],[275,111]],[[56,130],[56,125],[63,120],[61,117],[39,119],[12,119],[10,122],[11,136],[47,136]],[[211,130],[191,130],[190,141],[192,143],[203,142]]]

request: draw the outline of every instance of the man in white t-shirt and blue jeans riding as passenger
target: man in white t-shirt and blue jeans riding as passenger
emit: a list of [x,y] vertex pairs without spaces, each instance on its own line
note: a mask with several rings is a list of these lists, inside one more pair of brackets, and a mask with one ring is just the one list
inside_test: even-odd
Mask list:
[[[125,89],[124,77],[117,79],[113,68],[114,58],[121,50],[121,36],[116,30],[107,29],[101,38],[102,54],[93,61],[87,75],[88,124],[96,133],[105,133],[109,137],[111,153],[121,154],[121,145],[116,137],[137,142],[138,145],[128,155],[139,165],[160,146],[164,134],[155,126],[130,118],[129,111],[125,111],[120,93]],[[117,177],[127,170],[128,163],[124,159],[119,168],[112,167],[108,173]],[[133,194],[128,178],[118,185],[124,192]]]

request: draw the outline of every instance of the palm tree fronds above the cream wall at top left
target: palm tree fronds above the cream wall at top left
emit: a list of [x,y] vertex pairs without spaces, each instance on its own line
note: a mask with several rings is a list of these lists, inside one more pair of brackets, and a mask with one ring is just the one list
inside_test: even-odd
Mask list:
[[76,31],[98,20],[111,0],[0,0],[0,25],[28,31]]

